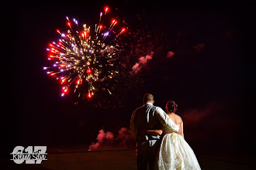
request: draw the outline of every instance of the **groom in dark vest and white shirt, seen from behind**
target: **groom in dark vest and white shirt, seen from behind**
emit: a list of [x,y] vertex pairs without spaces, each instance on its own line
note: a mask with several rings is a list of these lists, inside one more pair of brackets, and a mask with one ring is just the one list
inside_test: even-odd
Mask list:
[[177,131],[177,126],[165,114],[161,107],[154,106],[154,96],[146,93],[143,99],[144,105],[133,111],[130,120],[130,129],[137,141],[137,170],[146,170],[149,164],[150,170],[157,163],[157,151],[161,145],[160,135],[145,134],[146,130],[161,129],[161,125]]

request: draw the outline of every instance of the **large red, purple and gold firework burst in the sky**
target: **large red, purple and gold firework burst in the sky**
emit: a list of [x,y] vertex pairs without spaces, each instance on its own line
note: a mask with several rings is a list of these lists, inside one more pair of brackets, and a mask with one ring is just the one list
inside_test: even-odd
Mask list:
[[60,81],[61,97],[72,90],[80,97],[88,89],[87,97],[91,98],[100,88],[112,94],[103,86],[119,74],[119,67],[115,66],[122,50],[118,39],[127,27],[117,26],[117,18],[107,22],[107,13],[109,7],[100,13],[99,23],[93,30],[86,24],[81,29],[76,19],[68,17],[67,32],[57,29],[61,38],[47,48],[52,66],[45,66],[43,70]]

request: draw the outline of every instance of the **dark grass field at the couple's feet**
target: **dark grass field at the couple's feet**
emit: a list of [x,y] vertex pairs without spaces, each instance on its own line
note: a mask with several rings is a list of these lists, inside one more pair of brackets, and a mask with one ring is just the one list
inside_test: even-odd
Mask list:
[[[255,169],[246,163],[224,161],[220,158],[211,158],[197,155],[199,164],[203,170],[248,170]],[[47,161],[40,165],[16,165],[11,160],[6,160],[6,169],[104,169],[104,170],[132,170],[136,169],[135,150],[112,150],[112,151],[55,151],[48,153]],[[5,168],[4,168],[5,169]]]

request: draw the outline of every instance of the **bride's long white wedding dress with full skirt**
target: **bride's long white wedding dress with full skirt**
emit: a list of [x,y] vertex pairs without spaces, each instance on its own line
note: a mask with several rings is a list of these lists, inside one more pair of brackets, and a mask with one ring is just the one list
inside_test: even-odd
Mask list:
[[[178,125],[179,126],[179,125]],[[159,150],[160,170],[199,170],[199,162],[189,144],[181,135],[164,128],[164,138]]]

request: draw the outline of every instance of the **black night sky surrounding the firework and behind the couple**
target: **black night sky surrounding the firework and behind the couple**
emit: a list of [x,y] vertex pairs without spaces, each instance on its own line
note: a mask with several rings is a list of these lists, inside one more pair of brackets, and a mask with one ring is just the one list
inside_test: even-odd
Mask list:
[[[94,107],[90,100],[74,104],[60,96],[59,83],[43,71],[47,44],[57,38],[56,29],[65,30],[66,16],[93,27],[105,5],[118,8],[117,15],[129,24],[130,32],[146,30],[154,35],[154,57],[131,89],[119,89],[120,107]],[[249,5],[83,1],[13,2],[9,7],[12,73],[8,80],[12,83],[5,82],[10,90],[4,124],[10,148],[90,144],[102,128],[114,132],[128,128],[144,93],[153,93],[155,105],[163,109],[168,100],[176,101],[185,122],[185,138],[195,152],[243,152],[241,145],[252,143],[237,140],[236,135],[247,138],[249,134],[238,128],[240,113],[249,113],[246,107],[251,102],[246,73],[250,68],[243,47]],[[168,58],[169,51],[175,55]]]

